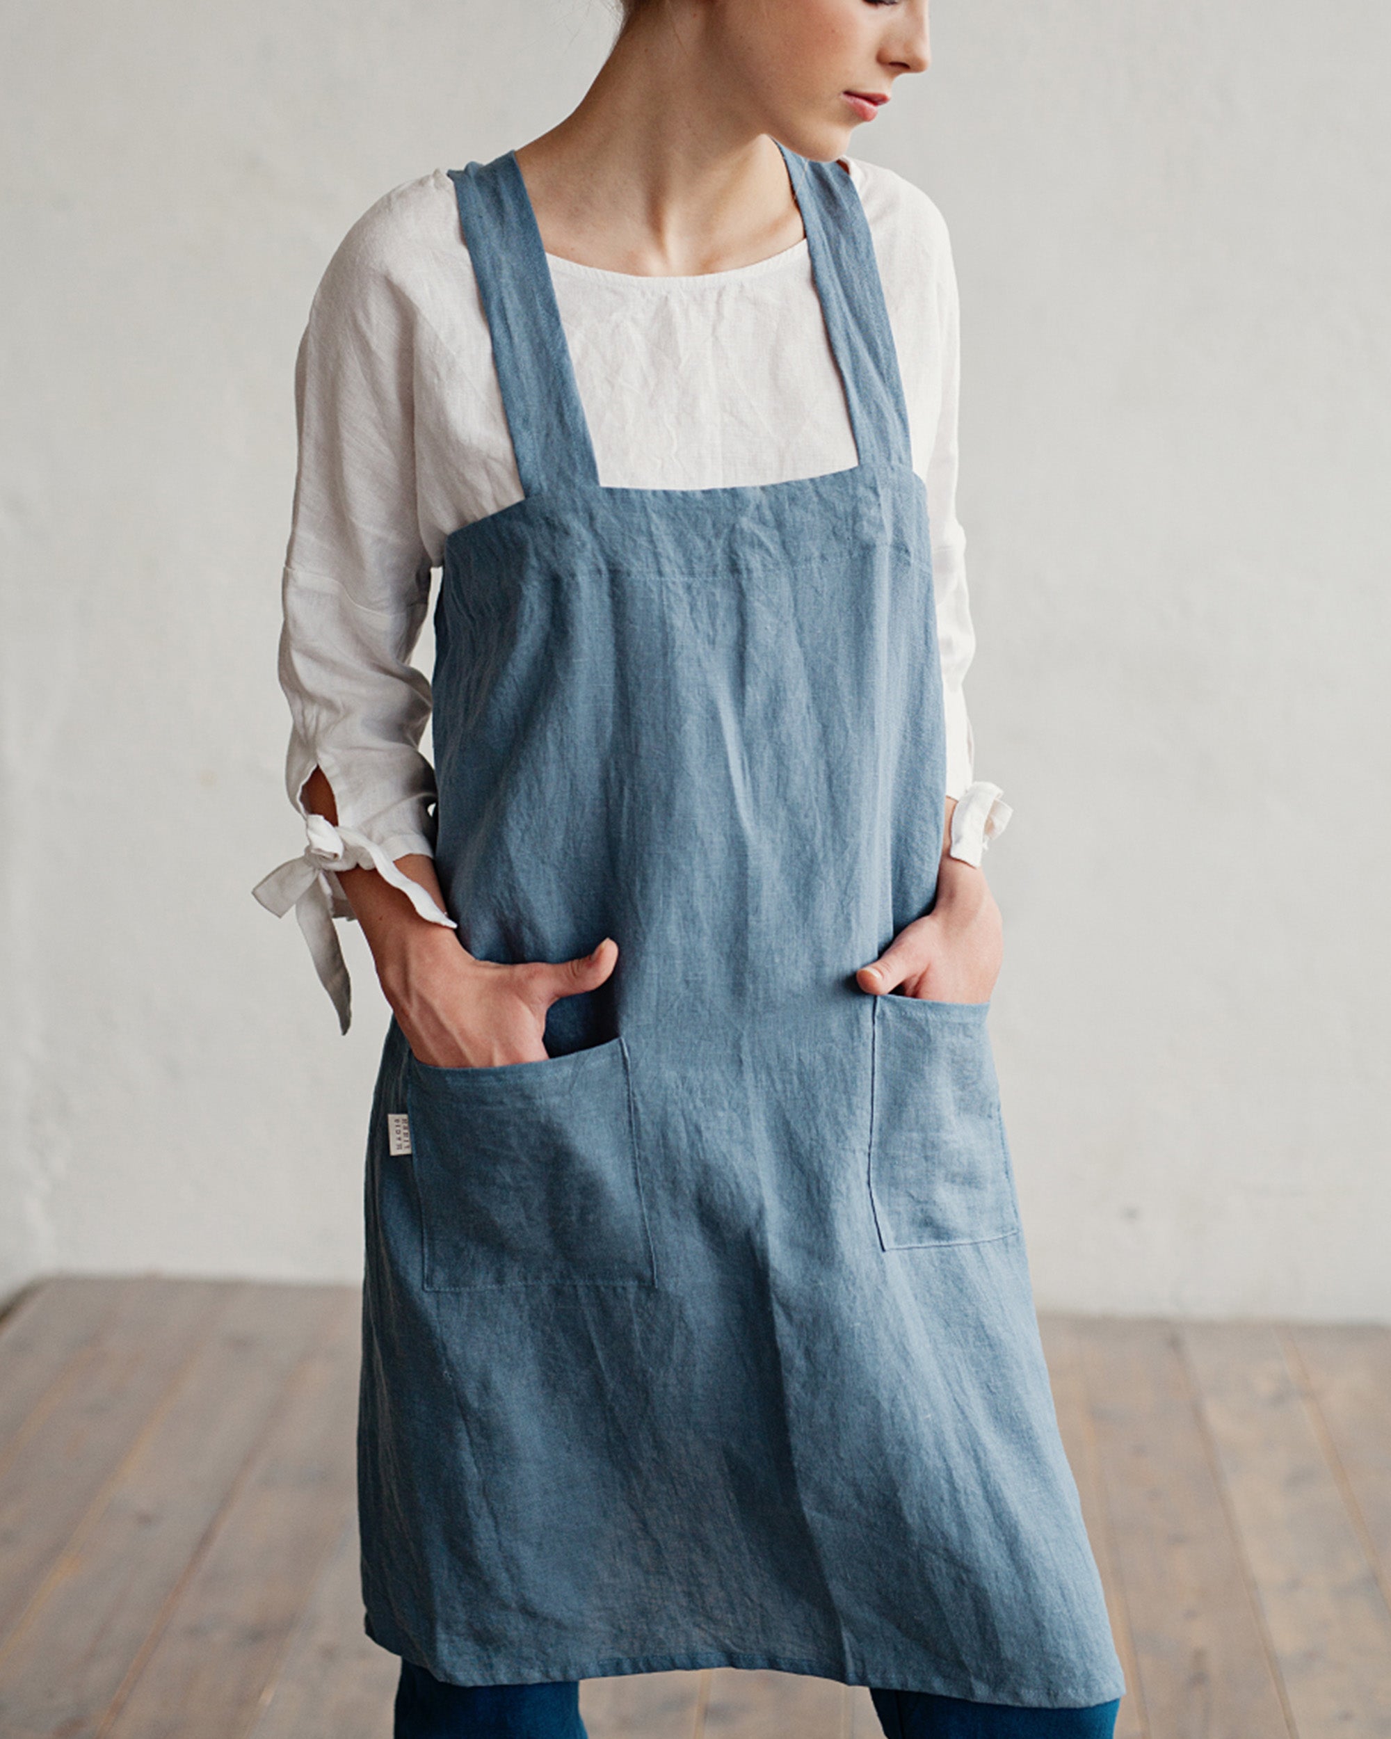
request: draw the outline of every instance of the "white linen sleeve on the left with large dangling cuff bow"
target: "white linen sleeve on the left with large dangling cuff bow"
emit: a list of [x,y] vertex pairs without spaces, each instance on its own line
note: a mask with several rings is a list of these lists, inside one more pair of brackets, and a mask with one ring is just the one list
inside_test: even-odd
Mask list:
[[[414,449],[414,310],[381,259],[379,202],[344,238],[309,310],[296,363],[299,459],[282,576],[280,685],[290,708],[285,784],[308,849],[256,889],[296,908],[348,1029],[332,920],[351,916],[336,870],[376,868],[423,916],[450,920],[395,868],[433,852],[435,776],[419,750],[429,683],[410,664],[429,602]],[[306,814],[315,767],[337,826]]]

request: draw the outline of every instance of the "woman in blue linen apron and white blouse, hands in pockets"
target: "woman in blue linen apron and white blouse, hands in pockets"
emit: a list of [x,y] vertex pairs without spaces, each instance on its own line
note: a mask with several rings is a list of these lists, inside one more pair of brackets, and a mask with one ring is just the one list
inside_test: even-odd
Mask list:
[[257,892],[344,1026],[351,909],[395,1016],[358,1466],[398,1736],[722,1664],[915,1739],[1111,1732],[984,1024],[951,259],[843,160],[927,64],[925,0],[635,0],[569,120],[388,195],[315,301],[309,849]]

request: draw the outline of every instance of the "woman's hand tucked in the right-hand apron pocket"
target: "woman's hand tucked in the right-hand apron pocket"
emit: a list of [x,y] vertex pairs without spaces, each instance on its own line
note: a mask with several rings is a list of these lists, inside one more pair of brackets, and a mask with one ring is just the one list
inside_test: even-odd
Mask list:
[[932,911],[899,930],[878,960],[855,972],[855,983],[875,996],[902,984],[909,996],[930,1002],[989,1002],[1003,951],[1000,908],[984,870],[942,854]]

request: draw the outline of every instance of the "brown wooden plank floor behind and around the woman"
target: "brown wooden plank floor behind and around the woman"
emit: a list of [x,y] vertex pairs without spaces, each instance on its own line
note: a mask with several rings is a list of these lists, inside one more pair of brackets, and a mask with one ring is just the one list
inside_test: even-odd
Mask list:
[[[1391,1739],[1391,1330],[1045,1318],[1120,1739]],[[0,1323],[0,1736],[389,1739],[358,1294],[54,1280]],[[873,1739],[862,1690],[593,1680],[593,1739]]]

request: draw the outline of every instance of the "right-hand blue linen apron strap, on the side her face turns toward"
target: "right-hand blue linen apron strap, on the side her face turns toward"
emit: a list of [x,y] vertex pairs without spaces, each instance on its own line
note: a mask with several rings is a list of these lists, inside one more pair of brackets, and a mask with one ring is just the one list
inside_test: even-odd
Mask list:
[[821,315],[862,466],[911,464],[908,403],[864,205],[840,163],[779,144],[807,230]]

